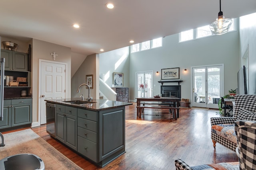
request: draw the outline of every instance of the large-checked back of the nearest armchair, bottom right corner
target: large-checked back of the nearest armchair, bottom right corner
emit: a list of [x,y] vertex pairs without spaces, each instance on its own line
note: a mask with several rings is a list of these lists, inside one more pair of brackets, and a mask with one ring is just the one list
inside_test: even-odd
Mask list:
[[240,170],[256,170],[256,121],[236,121]]

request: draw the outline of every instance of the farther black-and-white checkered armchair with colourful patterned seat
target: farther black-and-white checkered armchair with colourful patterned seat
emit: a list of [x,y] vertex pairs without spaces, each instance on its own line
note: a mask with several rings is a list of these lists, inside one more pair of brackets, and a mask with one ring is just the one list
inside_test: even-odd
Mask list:
[[234,131],[236,120],[256,121],[256,95],[237,94],[233,117],[211,117],[211,139],[214,149],[216,143],[236,151],[237,141]]

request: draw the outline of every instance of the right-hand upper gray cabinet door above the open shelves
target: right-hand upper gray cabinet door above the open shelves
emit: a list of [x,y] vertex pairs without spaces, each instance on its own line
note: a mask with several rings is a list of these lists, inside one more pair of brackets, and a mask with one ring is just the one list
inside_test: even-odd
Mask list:
[[28,71],[28,55],[26,53],[13,51],[12,69],[16,71]]

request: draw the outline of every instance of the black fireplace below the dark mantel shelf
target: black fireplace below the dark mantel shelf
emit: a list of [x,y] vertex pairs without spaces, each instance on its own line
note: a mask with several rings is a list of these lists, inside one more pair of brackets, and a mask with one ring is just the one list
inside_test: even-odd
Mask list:
[[161,86],[162,97],[175,96],[177,98],[181,97],[180,85],[175,86]]

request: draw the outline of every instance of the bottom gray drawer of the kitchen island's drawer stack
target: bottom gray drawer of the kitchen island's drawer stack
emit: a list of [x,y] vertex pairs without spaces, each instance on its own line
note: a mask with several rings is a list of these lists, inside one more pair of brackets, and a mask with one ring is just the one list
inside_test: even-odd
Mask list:
[[97,143],[84,139],[80,136],[77,137],[77,151],[80,154],[83,154],[87,158],[93,160],[94,162],[98,162],[98,150],[97,150]]

